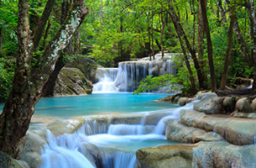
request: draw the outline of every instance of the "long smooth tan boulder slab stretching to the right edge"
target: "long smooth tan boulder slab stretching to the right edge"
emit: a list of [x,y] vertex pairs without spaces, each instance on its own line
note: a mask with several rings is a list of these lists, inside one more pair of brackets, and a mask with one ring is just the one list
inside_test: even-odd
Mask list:
[[205,115],[191,110],[180,112],[180,122],[189,127],[214,131],[231,144],[254,144],[256,119],[232,118],[226,115]]

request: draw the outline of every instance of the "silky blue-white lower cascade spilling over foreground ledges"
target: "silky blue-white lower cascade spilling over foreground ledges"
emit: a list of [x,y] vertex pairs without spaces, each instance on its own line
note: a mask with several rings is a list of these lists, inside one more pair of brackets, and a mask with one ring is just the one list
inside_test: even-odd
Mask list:
[[[183,108],[168,109],[165,118],[177,118],[182,109],[192,109],[193,102]],[[136,150],[172,144],[164,136],[165,125],[145,124],[154,113],[141,113],[140,124],[111,123],[111,118],[84,118],[83,125],[73,134],[55,136],[46,130],[48,144],[41,150],[41,168],[135,168]]]

